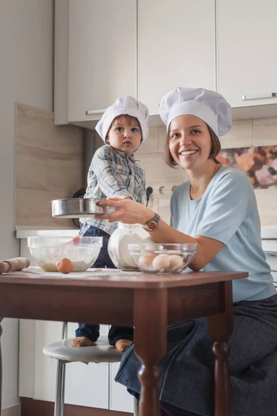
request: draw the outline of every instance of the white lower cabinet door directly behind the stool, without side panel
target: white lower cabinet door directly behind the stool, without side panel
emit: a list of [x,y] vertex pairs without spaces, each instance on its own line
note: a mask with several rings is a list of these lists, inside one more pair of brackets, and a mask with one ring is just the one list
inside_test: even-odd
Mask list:
[[[74,337],[76,323],[69,323],[68,337]],[[101,335],[108,326],[101,326]],[[35,321],[34,399],[54,401],[57,361],[42,354],[44,345],[61,339],[62,322]],[[22,380],[23,381],[23,380]],[[68,363],[65,367],[65,403],[108,409],[108,364]]]

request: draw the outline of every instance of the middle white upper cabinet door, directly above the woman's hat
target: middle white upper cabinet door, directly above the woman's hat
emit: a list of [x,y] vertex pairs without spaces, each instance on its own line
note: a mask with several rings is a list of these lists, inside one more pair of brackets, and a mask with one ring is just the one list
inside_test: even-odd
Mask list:
[[138,0],[138,98],[158,114],[175,87],[215,89],[215,0]]

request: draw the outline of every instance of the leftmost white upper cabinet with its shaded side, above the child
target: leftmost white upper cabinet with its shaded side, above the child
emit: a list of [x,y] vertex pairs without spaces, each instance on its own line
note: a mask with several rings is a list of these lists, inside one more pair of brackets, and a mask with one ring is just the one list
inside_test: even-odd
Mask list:
[[99,119],[137,96],[136,0],[56,0],[55,123]]

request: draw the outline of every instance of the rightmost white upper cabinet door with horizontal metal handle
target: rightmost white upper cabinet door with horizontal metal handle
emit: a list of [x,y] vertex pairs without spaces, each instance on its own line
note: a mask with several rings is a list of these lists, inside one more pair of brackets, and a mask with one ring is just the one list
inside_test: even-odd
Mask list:
[[276,16],[274,0],[217,0],[217,86],[232,107],[277,103]]

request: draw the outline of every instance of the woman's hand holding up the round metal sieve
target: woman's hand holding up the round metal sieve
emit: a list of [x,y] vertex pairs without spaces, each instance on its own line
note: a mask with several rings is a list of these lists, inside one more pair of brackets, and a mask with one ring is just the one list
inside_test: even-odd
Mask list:
[[145,225],[151,220],[155,212],[128,198],[109,198],[98,202],[99,207],[114,207],[115,211],[110,214],[95,215],[97,220],[108,220],[109,223],[120,221],[125,224]]

